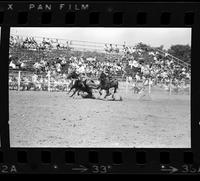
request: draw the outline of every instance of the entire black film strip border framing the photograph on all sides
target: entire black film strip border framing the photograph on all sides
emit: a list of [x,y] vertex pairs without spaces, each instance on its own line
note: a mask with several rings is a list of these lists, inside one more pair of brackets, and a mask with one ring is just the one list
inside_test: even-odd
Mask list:
[[[64,5],[62,5],[64,4]],[[71,5],[70,5],[71,4]],[[49,9],[48,6],[51,6]],[[60,9],[60,6],[63,8]],[[71,6],[71,9],[69,8]],[[19,27],[192,27],[192,77],[198,75],[199,3],[0,3],[1,57],[8,60],[9,30]],[[200,106],[192,78],[192,149],[10,148],[7,63],[2,62],[0,173],[199,173]],[[5,96],[7,95],[7,96]],[[3,131],[2,131],[3,130]]]

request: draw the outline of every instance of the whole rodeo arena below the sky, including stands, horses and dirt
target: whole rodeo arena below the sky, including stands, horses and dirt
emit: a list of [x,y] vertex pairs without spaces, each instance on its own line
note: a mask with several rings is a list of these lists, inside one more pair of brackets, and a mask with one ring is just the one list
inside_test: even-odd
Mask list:
[[143,43],[11,34],[12,147],[190,147],[191,65]]

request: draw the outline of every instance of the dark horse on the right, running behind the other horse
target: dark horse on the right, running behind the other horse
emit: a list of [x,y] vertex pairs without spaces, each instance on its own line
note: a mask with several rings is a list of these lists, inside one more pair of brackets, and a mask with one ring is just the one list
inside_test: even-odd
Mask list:
[[104,72],[102,72],[100,74],[99,81],[100,81],[100,84],[98,86],[98,89],[100,88],[99,94],[102,95],[101,91],[105,90],[106,95],[104,96],[104,98],[106,98],[107,96],[110,95],[109,89],[114,88],[114,93],[112,94],[112,98],[114,98],[114,94],[117,92],[119,86],[118,80],[108,77]]

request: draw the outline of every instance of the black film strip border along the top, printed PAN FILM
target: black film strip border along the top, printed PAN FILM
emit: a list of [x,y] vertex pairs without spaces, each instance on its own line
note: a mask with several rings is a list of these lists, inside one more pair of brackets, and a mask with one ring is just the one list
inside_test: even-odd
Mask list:
[[1,3],[0,24],[13,26],[192,26],[198,3]]

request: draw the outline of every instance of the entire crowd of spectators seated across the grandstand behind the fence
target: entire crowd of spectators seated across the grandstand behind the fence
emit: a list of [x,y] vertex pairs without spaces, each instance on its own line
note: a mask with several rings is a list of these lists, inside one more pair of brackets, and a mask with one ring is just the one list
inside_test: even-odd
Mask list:
[[[71,51],[69,45],[69,42],[60,45],[58,40],[53,42],[48,39],[43,39],[41,43],[38,43],[34,38],[26,38],[19,43],[13,37],[11,37],[10,43],[11,49],[19,46],[26,50],[37,49],[38,47],[43,48],[47,50],[47,55],[48,49],[52,47],[56,49],[66,48],[68,50],[66,52],[69,53]],[[131,79],[134,82],[144,82],[147,79],[151,79],[154,84],[169,84],[171,81],[174,85],[180,85],[189,82],[191,79],[190,68],[178,64],[167,53],[161,56],[158,51],[153,49],[128,47],[126,45],[119,49],[117,45],[105,44],[105,53],[119,53],[120,51],[123,52],[123,56],[114,59],[109,57],[104,59],[92,56],[85,57],[84,54],[67,57],[62,54],[57,57],[38,57],[37,61],[34,62],[20,59],[20,57],[10,54],[9,67],[11,69],[32,70],[36,76],[40,74],[47,75],[50,71],[52,79],[57,77],[54,82],[60,82],[58,84],[64,82],[66,74],[71,70],[88,77],[98,77],[99,73],[104,71],[112,76],[128,77],[129,80]],[[47,78],[37,79],[37,81],[29,81],[46,84],[44,82]]]

